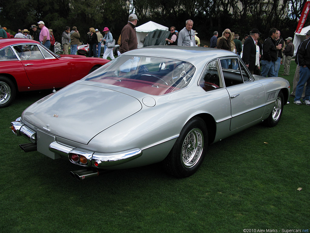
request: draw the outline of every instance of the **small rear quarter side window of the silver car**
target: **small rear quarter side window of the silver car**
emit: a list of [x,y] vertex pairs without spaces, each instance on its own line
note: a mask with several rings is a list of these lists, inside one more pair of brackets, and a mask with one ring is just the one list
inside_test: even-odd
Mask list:
[[201,86],[205,91],[211,91],[224,87],[219,74],[219,62],[217,60],[210,62],[201,75],[199,86]]

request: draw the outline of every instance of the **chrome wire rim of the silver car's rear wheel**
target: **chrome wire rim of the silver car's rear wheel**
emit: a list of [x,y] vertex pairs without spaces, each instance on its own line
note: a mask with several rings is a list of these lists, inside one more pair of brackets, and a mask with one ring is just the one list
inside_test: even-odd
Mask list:
[[203,149],[203,133],[200,129],[191,130],[182,145],[182,162],[185,167],[193,167],[201,157]]

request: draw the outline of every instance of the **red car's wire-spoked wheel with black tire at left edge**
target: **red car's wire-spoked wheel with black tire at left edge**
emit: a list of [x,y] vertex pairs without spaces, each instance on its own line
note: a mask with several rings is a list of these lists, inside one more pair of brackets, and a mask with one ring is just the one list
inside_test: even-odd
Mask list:
[[16,89],[13,82],[4,76],[0,76],[0,108],[7,107],[15,99]]

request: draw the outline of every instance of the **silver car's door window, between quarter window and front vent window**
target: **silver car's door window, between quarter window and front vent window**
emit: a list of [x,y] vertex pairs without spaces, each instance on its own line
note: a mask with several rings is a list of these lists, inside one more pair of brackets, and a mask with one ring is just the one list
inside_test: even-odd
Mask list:
[[243,83],[237,58],[221,59],[220,63],[226,87]]

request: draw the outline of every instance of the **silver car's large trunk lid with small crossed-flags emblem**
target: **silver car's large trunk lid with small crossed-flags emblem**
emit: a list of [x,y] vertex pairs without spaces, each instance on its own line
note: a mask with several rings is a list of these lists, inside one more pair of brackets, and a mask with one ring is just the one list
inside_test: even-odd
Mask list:
[[140,101],[130,95],[71,84],[28,107],[22,120],[47,133],[87,144],[95,135],[141,108]]

